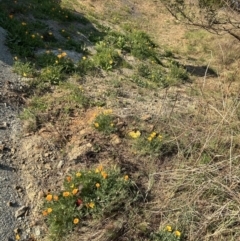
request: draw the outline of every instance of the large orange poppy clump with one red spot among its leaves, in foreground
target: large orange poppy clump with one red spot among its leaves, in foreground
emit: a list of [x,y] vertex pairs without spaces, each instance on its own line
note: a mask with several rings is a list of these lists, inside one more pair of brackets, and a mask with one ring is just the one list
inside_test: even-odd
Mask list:
[[43,215],[52,240],[61,240],[74,227],[91,218],[108,216],[113,210],[123,211],[137,199],[137,190],[127,175],[118,168],[82,170],[68,175],[64,190],[49,193]]

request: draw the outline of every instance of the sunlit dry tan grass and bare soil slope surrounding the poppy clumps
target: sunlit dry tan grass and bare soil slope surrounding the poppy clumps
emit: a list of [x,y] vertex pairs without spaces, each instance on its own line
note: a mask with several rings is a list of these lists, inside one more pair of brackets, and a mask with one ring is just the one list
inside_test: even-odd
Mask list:
[[[148,81],[151,78],[143,71],[146,66],[143,70],[139,68],[147,63],[150,70],[157,71],[161,64],[153,64],[152,59],[139,60],[123,51],[121,56],[132,68],[120,66],[101,73],[94,70],[84,76],[76,71],[69,84],[51,87],[43,81],[43,86],[31,85],[31,88],[37,86],[33,92],[38,94],[34,99],[30,88],[31,115],[24,113],[27,129],[35,131],[31,140],[40,138],[40,143],[48,140],[54,152],[61,150],[56,158],[66,160],[74,155],[74,146],[88,143],[94,146],[93,157],[83,152],[84,163],[67,163],[63,172],[69,166],[75,170],[96,163],[117,164],[137,183],[144,196],[141,203],[129,206],[129,210],[118,210],[101,222],[89,222],[66,239],[79,240],[80,235],[81,240],[149,240],[150,233],[156,234],[171,225],[182,232],[182,240],[238,240],[238,46],[229,44],[233,40],[227,36],[219,39],[203,31],[186,30],[154,1],[75,1],[73,4],[63,1],[62,5],[84,13],[88,24],[94,23],[92,31],[103,33],[103,26],[126,31],[123,29],[130,26],[148,32],[160,46],[156,51],[162,65],[168,67],[161,69],[166,71],[167,81],[167,88],[162,88],[166,86]],[[65,29],[64,26],[67,22],[62,22],[58,29]],[[72,25],[68,29],[72,31],[69,36],[74,38],[76,29]],[[54,47],[52,43],[47,46]],[[65,46],[57,44],[55,48],[59,47]],[[193,83],[176,82],[179,72],[171,67],[171,61],[184,64],[192,74]],[[210,69],[211,74],[206,75]],[[147,78],[139,81],[136,78],[139,74]],[[152,72],[151,76],[154,74],[160,73]],[[84,96],[78,92],[79,85]],[[62,101],[66,96],[69,98]],[[114,124],[118,126],[118,132],[110,136],[92,127],[101,105],[113,110]],[[132,130],[141,131],[141,141],[129,139],[128,132]],[[145,141],[152,131],[163,137],[159,148],[147,148]],[[22,145],[29,141],[23,139]],[[45,153],[49,146],[38,151]],[[20,154],[24,156],[23,152]],[[34,161],[32,158],[31,162]],[[60,183],[62,177],[57,176],[54,167],[47,171],[47,176],[46,173],[39,176],[48,177],[43,186],[57,190],[60,184],[56,185],[56,179]],[[24,171],[31,174],[29,170]],[[34,188],[36,191],[41,187],[36,184]],[[34,198],[32,202],[36,202]],[[154,240],[163,237],[155,236]]]

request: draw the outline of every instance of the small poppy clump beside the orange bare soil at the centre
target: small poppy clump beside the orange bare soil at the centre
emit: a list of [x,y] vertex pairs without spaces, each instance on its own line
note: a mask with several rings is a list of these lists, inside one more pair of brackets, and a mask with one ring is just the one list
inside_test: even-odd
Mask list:
[[112,116],[112,110],[104,110],[98,116],[96,116],[93,126],[104,134],[111,134],[117,130],[114,126],[114,117]]

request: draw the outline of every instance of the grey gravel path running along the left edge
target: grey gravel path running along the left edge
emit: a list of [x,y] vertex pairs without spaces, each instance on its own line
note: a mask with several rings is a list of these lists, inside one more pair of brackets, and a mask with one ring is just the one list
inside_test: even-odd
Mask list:
[[12,72],[12,56],[4,45],[5,37],[6,32],[0,28],[0,241],[15,240],[14,229],[21,222],[21,218],[15,218],[15,213],[22,206],[13,161],[19,129],[18,108],[9,97],[9,89],[14,89],[18,77]]

